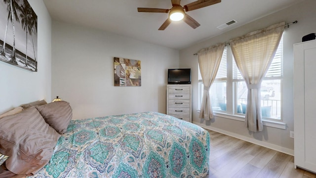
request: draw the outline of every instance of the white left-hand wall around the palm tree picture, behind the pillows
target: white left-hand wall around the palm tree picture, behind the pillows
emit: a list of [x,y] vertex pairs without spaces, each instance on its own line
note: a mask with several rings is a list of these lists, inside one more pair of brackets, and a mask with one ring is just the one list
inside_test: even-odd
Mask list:
[[51,18],[42,0],[29,3],[38,15],[38,72],[0,61],[0,113],[24,103],[51,99]]

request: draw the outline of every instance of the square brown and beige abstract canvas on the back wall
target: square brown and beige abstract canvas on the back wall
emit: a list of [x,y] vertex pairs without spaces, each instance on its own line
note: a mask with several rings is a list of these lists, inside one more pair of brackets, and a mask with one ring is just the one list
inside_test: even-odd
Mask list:
[[140,60],[114,57],[114,86],[141,86]]

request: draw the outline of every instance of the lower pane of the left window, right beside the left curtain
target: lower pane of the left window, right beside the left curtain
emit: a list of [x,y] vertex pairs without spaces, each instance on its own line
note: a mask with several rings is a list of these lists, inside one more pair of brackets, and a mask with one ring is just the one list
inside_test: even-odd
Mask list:
[[226,82],[214,82],[210,89],[212,108],[226,111]]

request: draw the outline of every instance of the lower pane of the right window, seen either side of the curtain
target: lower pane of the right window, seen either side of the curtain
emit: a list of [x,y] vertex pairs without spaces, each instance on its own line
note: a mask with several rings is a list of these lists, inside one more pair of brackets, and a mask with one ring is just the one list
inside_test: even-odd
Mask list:
[[[246,83],[237,82],[237,113],[246,113],[247,92]],[[281,80],[262,81],[261,113],[262,117],[281,119]]]

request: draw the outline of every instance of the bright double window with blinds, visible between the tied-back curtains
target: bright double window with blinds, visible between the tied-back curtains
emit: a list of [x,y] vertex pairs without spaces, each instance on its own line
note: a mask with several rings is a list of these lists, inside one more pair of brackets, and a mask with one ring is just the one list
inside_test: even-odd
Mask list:
[[[261,111],[264,119],[281,120],[282,63],[283,37],[261,84]],[[231,50],[225,47],[220,68],[209,91],[213,111],[233,115],[245,114],[247,91]],[[203,84],[199,75],[199,106],[202,92]]]

